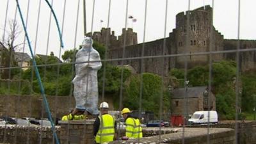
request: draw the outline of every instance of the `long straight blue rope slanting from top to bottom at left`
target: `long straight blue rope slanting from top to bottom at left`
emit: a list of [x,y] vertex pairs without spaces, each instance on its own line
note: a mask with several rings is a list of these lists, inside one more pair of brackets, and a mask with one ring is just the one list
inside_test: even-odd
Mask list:
[[42,94],[44,105],[45,105],[45,110],[47,111],[48,118],[49,118],[49,120],[51,122],[51,125],[52,125],[52,132],[53,132],[55,141],[56,141],[57,144],[59,144],[58,136],[57,136],[56,131],[55,131],[55,126],[52,122],[52,116],[51,116],[51,111],[49,109],[49,104],[48,104],[47,99],[45,97],[44,86],[42,84],[41,77],[40,77],[40,74],[38,72],[38,68],[36,66],[35,56],[33,54],[32,48],[31,48],[28,32],[27,32],[27,29],[26,29],[26,26],[25,26],[25,23],[24,23],[24,19],[22,17],[21,10],[20,10],[19,1],[16,0],[16,3],[17,3],[17,7],[18,7],[18,10],[19,10],[19,13],[20,13],[20,19],[22,21],[22,26],[23,26],[24,31],[25,31],[25,36],[26,36],[26,39],[28,41],[29,50],[30,50],[30,53],[31,53],[31,56],[32,56],[32,59],[33,59],[33,67],[35,67],[36,78],[38,79],[38,84],[40,86],[41,94]]

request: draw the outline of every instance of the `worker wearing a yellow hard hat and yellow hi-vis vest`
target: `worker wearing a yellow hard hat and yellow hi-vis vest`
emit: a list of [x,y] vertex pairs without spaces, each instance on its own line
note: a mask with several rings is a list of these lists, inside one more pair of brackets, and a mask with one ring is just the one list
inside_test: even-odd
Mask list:
[[125,120],[125,136],[129,139],[131,138],[142,138],[142,128],[140,124],[140,119],[136,116],[131,115],[129,108],[124,108],[122,110],[122,115]]

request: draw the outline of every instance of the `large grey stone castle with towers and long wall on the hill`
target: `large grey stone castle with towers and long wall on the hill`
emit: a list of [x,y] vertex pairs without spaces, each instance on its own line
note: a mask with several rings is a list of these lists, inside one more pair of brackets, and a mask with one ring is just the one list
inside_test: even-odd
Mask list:
[[[189,15],[189,26],[187,19]],[[211,33],[212,30],[212,33]],[[212,61],[236,60],[237,40],[223,38],[214,26],[212,26],[212,8],[204,6],[186,13],[176,15],[176,28],[167,38],[137,44],[137,35],[131,28],[123,29],[122,35],[116,39],[115,32],[110,35],[110,28],[102,28],[101,32],[88,33],[94,40],[102,44],[108,44],[108,59],[115,65],[122,64],[124,35],[125,60],[124,65],[131,65],[137,72],[141,70],[141,53],[143,50],[143,72],[154,74],[168,74],[171,68],[184,68],[188,61],[188,68],[209,63],[209,54],[204,52],[214,51]],[[108,35],[108,36],[107,36]],[[106,40],[108,37],[108,41]],[[256,48],[256,40],[240,40],[240,49]],[[187,50],[186,50],[187,49]],[[227,51],[227,52],[217,52]],[[230,52],[228,52],[230,51]],[[195,54],[196,53],[196,54]],[[201,53],[201,54],[200,54]],[[185,56],[187,54],[187,56]],[[165,56],[164,56],[165,55]],[[166,56],[168,55],[168,56]],[[154,58],[150,58],[153,56]],[[256,51],[241,52],[240,68],[243,71],[256,68]]]

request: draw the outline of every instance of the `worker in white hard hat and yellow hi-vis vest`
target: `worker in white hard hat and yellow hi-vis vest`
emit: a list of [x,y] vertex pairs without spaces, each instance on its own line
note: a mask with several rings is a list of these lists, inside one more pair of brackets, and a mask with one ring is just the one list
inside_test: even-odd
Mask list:
[[109,143],[114,140],[116,131],[115,118],[108,114],[107,102],[100,103],[100,115],[93,124],[93,136],[96,143]]

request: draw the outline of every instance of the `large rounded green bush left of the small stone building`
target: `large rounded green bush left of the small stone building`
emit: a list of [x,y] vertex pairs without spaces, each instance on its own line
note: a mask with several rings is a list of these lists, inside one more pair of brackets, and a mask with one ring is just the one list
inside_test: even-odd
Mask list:
[[[140,106],[140,76],[131,76],[129,83],[125,85],[124,106],[131,109],[138,109]],[[143,88],[142,88],[142,110],[153,111],[156,116],[159,113],[159,102],[161,95],[162,82],[161,77],[143,73]],[[163,111],[168,111],[170,108],[170,93],[164,90],[163,92]]]

